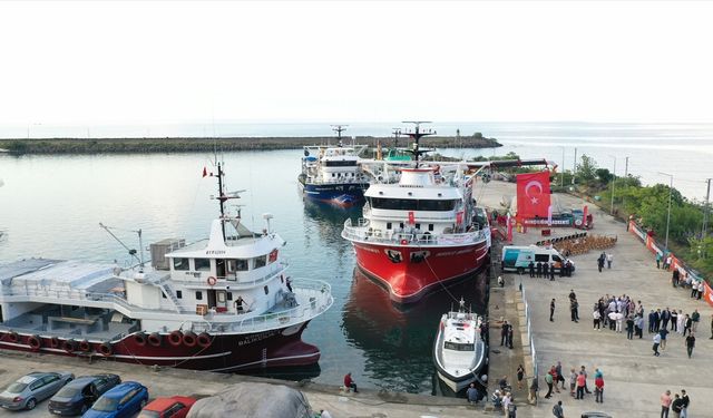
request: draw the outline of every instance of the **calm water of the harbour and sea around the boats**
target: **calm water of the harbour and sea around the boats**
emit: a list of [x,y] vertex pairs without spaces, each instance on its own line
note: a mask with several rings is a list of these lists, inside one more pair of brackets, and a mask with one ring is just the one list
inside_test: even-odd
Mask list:
[[[387,135],[393,124],[350,126],[353,135]],[[393,125],[398,126],[398,125]],[[525,158],[546,157],[565,166],[574,164],[574,149],[594,157],[599,166],[628,173],[645,183],[667,183],[688,197],[705,196],[706,177],[713,177],[711,125],[608,124],[433,124],[439,134],[481,132],[498,138],[497,149],[441,150],[452,156],[490,156],[516,152]],[[37,127],[32,127],[36,129]],[[42,127],[46,129],[47,127]],[[154,128],[157,136],[189,135],[191,129]],[[196,128],[197,129],[197,128]],[[221,136],[320,135],[326,125],[221,125]],[[0,136],[9,136],[2,134]],[[130,132],[125,135],[137,136]],[[202,133],[194,133],[202,135]],[[66,136],[58,132],[55,135]],[[140,134],[139,134],[140,135]],[[19,135],[18,135],[19,136]],[[31,135],[35,136],[35,135]],[[72,135],[80,136],[80,135]],[[97,135],[111,136],[111,135]],[[287,241],[285,256],[294,278],[330,282],[334,307],[311,322],[304,340],[322,350],[319,370],[305,375],[316,381],[339,383],[351,371],[365,387],[432,391],[431,344],[440,314],[453,298],[463,295],[481,309],[482,276],[441,291],[408,311],[391,307],[385,293],[354,271],[350,244],[340,236],[341,225],[359,211],[336,211],[303,202],[297,191],[301,150],[228,153],[225,161],[228,189],[247,189],[240,201],[243,217],[262,229],[262,215],[274,215],[274,229]],[[0,263],[29,256],[79,259],[120,263],[128,256],[99,223],[129,246],[166,237],[204,239],[217,205],[211,178],[202,178],[212,156],[203,154],[22,156],[0,154]],[[0,184],[2,184],[0,183]],[[301,378],[300,375],[289,376]]]

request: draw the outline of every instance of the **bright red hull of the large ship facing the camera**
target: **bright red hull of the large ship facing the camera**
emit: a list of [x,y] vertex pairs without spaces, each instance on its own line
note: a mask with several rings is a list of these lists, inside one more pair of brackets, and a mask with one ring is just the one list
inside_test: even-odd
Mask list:
[[460,246],[353,245],[360,269],[384,284],[398,303],[416,302],[437,285],[473,273],[488,257],[485,241]]

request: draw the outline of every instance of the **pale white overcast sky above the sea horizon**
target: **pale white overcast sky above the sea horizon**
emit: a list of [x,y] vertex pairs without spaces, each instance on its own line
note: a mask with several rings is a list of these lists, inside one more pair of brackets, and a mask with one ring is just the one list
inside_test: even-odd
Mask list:
[[712,20],[682,1],[3,1],[0,124],[706,123]]

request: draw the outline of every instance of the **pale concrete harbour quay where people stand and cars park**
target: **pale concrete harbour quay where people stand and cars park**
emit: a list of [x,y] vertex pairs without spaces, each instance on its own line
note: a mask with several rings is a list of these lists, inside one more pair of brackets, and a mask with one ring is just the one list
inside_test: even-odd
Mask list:
[[[490,182],[482,191],[473,193],[479,203],[504,210],[500,201],[504,195],[514,195],[515,184]],[[588,234],[616,236],[616,245],[605,250],[614,255],[612,269],[597,270],[598,251],[573,256],[576,271],[570,278],[557,275],[554,281],[530,279],[526,273],[502,274],[505,286],[498,288],[496,279],[500,273],[500,252],[494,249],[494,264],[489,314],[491,324],[499,319],[515,321],[516,334],[514,349],[500,347],[499,329],[491,327],[490,342],[490,389],[488,401],[476,407],[467,405],[465,399],[379,391],[361,388],[359,393],[344,393],[340,390],[341,381],[333,385],[318,385],[309,381],[287,382],[238,375],[221,375],[201,371],[177,370],[169,368],[137,367],[131,364],[89,361],[87,358],[61,358],[58,356],[38,356],[19,352],[0,351],[0,383],[7,385],[13,379],[33,370],[66,370],[76,376],[99,372],[114,372],[123,380],[136,380],[149,389],[152,398],[159,396],[185,395],[195,397],[211,396],[225,387],[238,382],[272,382],[286,385],[305,393],[312,408],[329,410],[332,417],[473,417],[497,416],[488,408],[489,397],[497,379],[508,376],[516,386],[515,370],[518,363],[526,368],[528,378],[538,369],[539,399],[527,401],[526,390],[516,390],[515,399],[517,417],[551,417],[553,406],[563,401],[565,417],[580,417],[587,411],[602,411],[612,417],[649,418],[661,412],[660,397],[665,390],[672,393],[685,389],[691,397],[690,415],[692,417],[713,417],[710,399],[713,399],[713,340],[711,319],[713,309],[703,300],[690,298],[690,290],[674,289],[671,285],[671,272],[656,269],[653,254],[626,231],[626,225],[606,212],[597,208],[579,197],[558,195],[563,206],[582,207],[589,205],[594,215],[594,229]],[[514,233],[515,245],[527,245],[543,241],[540,229],[529,229],[527,233]],[[551,237],[565,236],[579,232],[569,227],[551,229]],[[521,284],[522,291],[519,290]],[[570,290],[579,302],[579,322],[569,317],[568,294]],[[616,333],[608,329],[596,331],[592,325],[592,307],[605,295],[631,295],[641,301],[645,311],[651,309],[681,309],[691,313],[697,309],[701,323],[696,332],[696,346],[691,359],[686,356],[684,339],[677,333],[668,334],[667,347],[661,357],[654,357],[652,337],[644,329],[643,339],[626,339],[626,332]],[[555,321],[549,321],[549,301],[556,299]],[[424,299],[422,303],[428,303]],[[527,318],[525,303],[530,312],[530,337],[527,336]],[[496,308],[497,305],[497,308]],[[311,327],[319,327],[313,323]],[[531,340],[535,347],[533,362]],[[494,352],[497,350],[498,352]],[[550,366],[560,361],[566,388],[545,399],[547,390],[545,373]],[[576,400],[569,395],[568,371],[579,370],[585,366],[589,373],[587,385],[593,390],[594,371],[604,373],[604,404],[594,401],[594,393],[586,395],[584,400]],[[530,380],[527,380],[529,386]],[[359,383],[359,382],[358,382]],[[10,412],[3,412],[9,415]],[[22,417],[47,417],[47,405],[41,402],[32,411],[21,412]],[[499,415],[499,414],[498,414]]]

